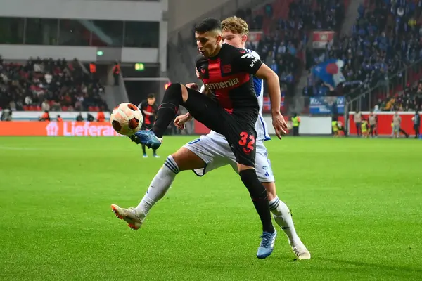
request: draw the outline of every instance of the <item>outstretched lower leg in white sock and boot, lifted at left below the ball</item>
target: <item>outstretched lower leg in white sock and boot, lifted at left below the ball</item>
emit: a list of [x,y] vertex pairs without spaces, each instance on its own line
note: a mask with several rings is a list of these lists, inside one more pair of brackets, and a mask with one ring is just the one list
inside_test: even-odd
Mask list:
[[167,157],[164,165],[155,175],[153,181],[151,181],[146,195],[143,196],[136,208],[125,209],[112,204],[111,209],[118,218],[123,219],[128,223],[129,228],[132,228],[133,230],[139,229],[148,214],[148,211],[165,195],[178,173],[179,167],[173,157]]

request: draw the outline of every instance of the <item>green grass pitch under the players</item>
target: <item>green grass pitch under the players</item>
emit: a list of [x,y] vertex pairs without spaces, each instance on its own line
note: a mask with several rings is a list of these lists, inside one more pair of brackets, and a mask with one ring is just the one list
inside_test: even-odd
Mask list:
[[0,280],[421,280],[421,141],[267,142],[312,254],[293,261],[280,229],[256,258],[260,221],[230,167],[179,174],[140,230],[113,215],[192,139],[166,137],[161,159],[143,159],[127,138],[0,138]]

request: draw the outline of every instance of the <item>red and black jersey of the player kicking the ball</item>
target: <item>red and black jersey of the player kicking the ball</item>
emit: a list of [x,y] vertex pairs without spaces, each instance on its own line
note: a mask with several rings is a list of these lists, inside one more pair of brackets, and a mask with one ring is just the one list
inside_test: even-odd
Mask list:
[[212,98],[227,112],[251,112],[257,114],[259,105],[252,76],[262,61],[243,48],[222,44],[218,55],[205,58],[198,55],[196,68]]

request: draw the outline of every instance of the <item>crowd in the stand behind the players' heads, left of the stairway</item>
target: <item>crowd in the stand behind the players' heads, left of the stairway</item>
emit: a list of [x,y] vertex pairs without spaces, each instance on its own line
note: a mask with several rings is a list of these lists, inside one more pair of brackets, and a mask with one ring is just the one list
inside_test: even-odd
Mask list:
[[264,31],[257,46],[248,42],[246,48],[257,51],[293,95],[302,74],[309,31],[335,29],[343,22],[344,13],[342,0],[276,0],[257,11],[239,10],[236,15],[246,19],[250,30]]

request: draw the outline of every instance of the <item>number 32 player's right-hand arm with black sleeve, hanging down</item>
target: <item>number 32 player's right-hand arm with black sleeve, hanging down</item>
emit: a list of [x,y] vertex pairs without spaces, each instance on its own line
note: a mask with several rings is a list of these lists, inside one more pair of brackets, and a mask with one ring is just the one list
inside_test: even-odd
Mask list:
[[262,63],[259,58],[254,57],[250,53],[246,53],[242,49],[238,49],[235,57],[236,65],[241,72],[248,72],[256,77],[267,81],[269,99],[271,101],[271,116],[276,136],[281,138],[287,131],[287,123],[283,115],[280,113],[280,81],[279,76],[271,70],[267,65]]

